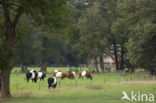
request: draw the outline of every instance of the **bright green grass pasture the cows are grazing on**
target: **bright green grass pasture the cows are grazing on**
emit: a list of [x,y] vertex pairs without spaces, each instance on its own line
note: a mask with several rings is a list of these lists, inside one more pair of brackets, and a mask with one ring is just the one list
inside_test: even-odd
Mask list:
[[[1,103],[129,103],[127,100],[121,101],[122,91],[126,91],[128,94],[131,91],[136,93],[139,91],[147,94],[152,93],[156,96],[156,81],[145,78],[146,74],[127,74],[125,76],[92,74],[93,81],[86,78],[79,80],[78,75],[76,75],[76,81],[58,79],[60,88],[57,85],[56,89],[49,90],[47,78],[52,76],[51,74],[47,74],[44,82],[38,80],[37,83],[31,81],[27,83],[25,74],[18,73],[16,75],[14,73],[18,69],[15,68],[11,75],[11,93],[14,98],[0,101]],[[37,68],[30,69],[38,70]],[[48,68],[48,72],[52,72],[54,69],[58,68]],[[77,87],[75,87],[75,82],[77,82]]]

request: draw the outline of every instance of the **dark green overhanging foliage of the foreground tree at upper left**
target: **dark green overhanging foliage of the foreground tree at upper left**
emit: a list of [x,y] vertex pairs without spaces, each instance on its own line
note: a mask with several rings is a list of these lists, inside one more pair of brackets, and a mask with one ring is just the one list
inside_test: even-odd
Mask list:
[[[2,45],[5,44],[4,41],[6,39],[5,32],[7,28],[4,28],[5,26],[3,24],[5,18],[9,18],[10,20],[8,19],[8,22],[12,23],[12,25],[15,27],[14,29],[16,31],[16,34],[14,35],[15,37],[13,37],[13,39],[16,38],[16,48],[18,48],[16,55],[19,55],[14,57],[18,58],[18,60],[20,60],[21,62],[28,62],[30,59],[34,58],[33,55],[35,55],[34,53],[37,53],[37,49],[38,51],[42,49],[39,48],[39,43],[41,43],[40,40],[37,41],[37,39],[39,39],[37,37],[39,35],[36,35],[38,34],[37,31],[32,32],[31,30],[32,28],[34,28],[32,27],[32,25],[40,25],[42,28],[45,29],[45,31],[48,32],[46,34],[44,33],[44,35],[48,35],[48,37],[54,37],[54,34],[66,34],[68,31],[71,12],[69,10],[66,0],[0,1],[0,6],[3,7],[4,5],[8,9],[9,14],[0,14],[0,44],[2,51],[1,55],[4,55],[3,58],[1,57],[2,60],[0,61],[2,62],[2,64],[5,63],[3,65],[7,66],[10,64],[10,61],[8,61],[9,58],[7,56],[9,54],[5,54],[8,52],[5,51],[5,46]],[[3,9],[0,8],[0,11],[3,12]],[[34,33],[35,35],[32,35],[32,33]],[[14,47],[9,49],[11,50],[9,50],[11,52],[10,55],[13,56],[13,52],[15,50],[12,51],[12,49],[14,49]],[[27,59],[24,60],[23,58]],[[5,67],[1,66],[1,69],[3,68]]]

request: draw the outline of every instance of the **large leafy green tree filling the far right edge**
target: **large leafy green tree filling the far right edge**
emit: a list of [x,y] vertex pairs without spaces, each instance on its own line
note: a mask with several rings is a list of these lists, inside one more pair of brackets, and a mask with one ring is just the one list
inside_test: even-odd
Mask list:
[[155,0],[125,0],[118,3],[118,10],[128,22],[130,38],[127,43],[130,62],[138,67],[155,69]]

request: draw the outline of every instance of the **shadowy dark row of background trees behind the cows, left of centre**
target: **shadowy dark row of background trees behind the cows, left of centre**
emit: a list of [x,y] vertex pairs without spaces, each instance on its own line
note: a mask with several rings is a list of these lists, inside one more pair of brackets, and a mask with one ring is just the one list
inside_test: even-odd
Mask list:
[[27,70],[27,66],[41,66],[41,71],[46,72],[46,66],[79,64],[76,53],[66,44],[64,35],[51,38],[39,28],[32,29],[24,40],[16,44],[14,65],[21,66],[22,72]]

